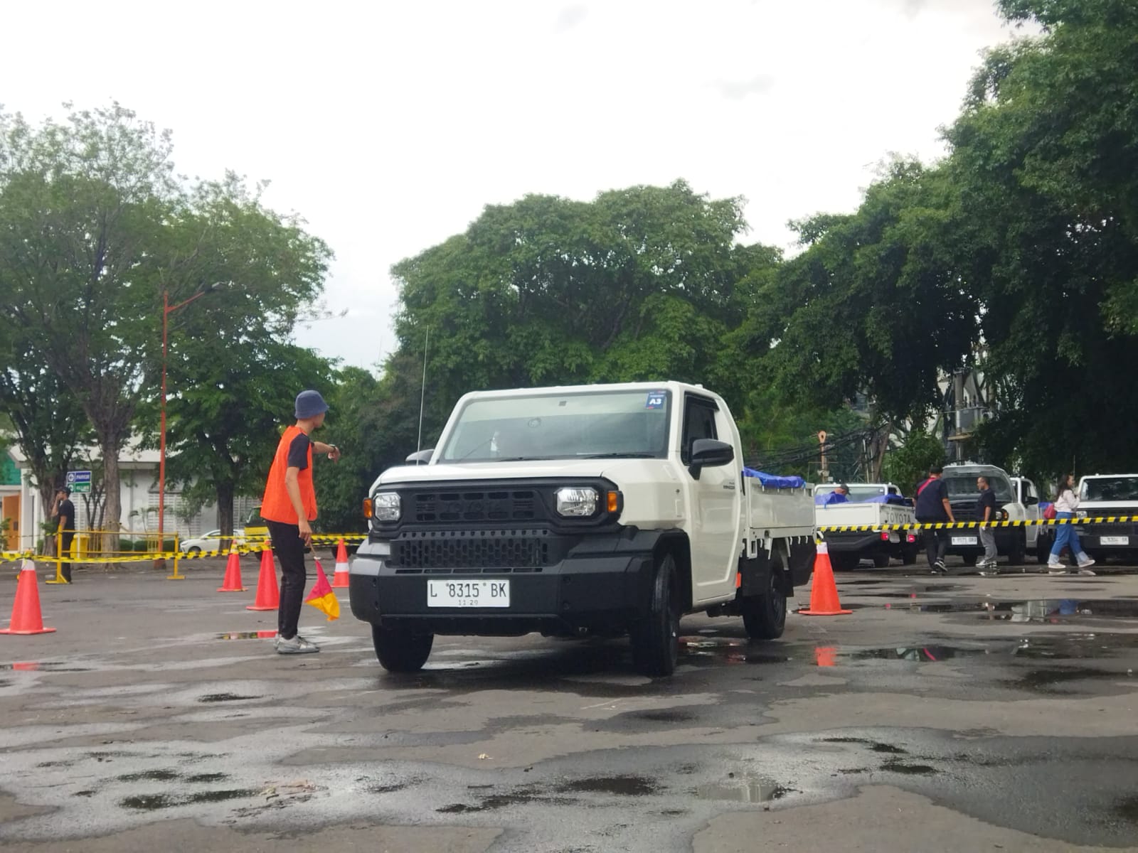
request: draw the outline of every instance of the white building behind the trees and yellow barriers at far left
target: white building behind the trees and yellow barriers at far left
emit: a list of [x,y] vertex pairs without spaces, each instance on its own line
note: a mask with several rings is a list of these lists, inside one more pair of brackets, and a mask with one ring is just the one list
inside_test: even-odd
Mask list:
[[[40,505],[39,489],[32,481],[27,459],[18,447],[13,446],[8,449],[8,458],[18,471],[18,482],[0,483],[0,497],[3,500],[2,517],[8,521],[5,547],[8,550],[35,548],[38,540],[43,536],[42,523],[46,520],[43,507]],[[80,463],[75,463],[75,466],[79,467]],[[10,472],[10,466],[7,470]],[[5,481],[14,478],[0,477],[0,480]],[[122,538],[141,538],[147,533],[157,532],[158,452],[140,449],[133,445],[124,448],[118,459],[118,489],[122,500]],[[84,497],[82,494],[72,495],[72,503],[75,504],[75,527],[80,531],[91,528],[89,505]],[[261,503],[261,498],[244,497],[237,498],[233,503],[234,527],[241,527],[249,511]],[[181,512],[181,494],[171,491],[167,482],[164,536],[173,536],[176,532],[179,538],[185,539],[200,536],[217,527],[215,504],[201,507],[189,517]]]

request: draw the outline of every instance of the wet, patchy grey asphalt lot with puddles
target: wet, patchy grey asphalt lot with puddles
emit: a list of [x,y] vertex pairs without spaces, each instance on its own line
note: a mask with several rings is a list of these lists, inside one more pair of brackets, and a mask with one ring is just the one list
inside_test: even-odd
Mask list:
[[221,563],[76,571],[40,585],[56,633],[0,637],[0,845],[1138,848],[1138,571],[1031,569],[840,573],[852,614],[770,643],[691,616],[655,680],[625,640],[537,636],[394,677],[346,595],[282,657]]

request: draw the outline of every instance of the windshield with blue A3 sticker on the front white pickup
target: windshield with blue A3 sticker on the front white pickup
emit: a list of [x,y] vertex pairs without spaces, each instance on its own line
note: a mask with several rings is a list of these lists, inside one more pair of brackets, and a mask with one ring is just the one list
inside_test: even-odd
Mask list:
[[668,391],[594,391],[472,399],[459,412],[439,462],[663,458]]

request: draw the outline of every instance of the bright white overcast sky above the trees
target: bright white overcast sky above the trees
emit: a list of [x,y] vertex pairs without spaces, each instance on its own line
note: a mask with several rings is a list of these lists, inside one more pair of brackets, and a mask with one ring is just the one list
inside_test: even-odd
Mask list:
[[118,100],[183,174],[267,179],[332,247],[299,342],[373,366],[389,267],[530,192],[686,179],[744,196],[748,241],[856,208],[890,151],[942,152],[990,0],[5,3],[0,103]]

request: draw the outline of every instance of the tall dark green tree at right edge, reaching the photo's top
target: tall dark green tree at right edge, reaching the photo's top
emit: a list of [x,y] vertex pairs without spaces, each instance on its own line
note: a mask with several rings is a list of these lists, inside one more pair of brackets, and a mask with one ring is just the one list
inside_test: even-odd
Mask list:
[[1004,389],[983,441],[1030,471],[1127,470],[1138,389],[1138,7],[1004,0],[1044,34],[991,51],[948,131],[958,268]]

